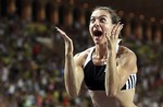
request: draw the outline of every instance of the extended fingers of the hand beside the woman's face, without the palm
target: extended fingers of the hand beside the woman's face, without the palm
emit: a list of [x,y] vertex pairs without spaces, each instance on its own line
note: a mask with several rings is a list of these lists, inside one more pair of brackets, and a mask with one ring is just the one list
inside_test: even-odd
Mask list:
[[121,24],[121,22],[118,22],[111,31],[111,38],[117,39],[120,32],[122,31],[124,24]]

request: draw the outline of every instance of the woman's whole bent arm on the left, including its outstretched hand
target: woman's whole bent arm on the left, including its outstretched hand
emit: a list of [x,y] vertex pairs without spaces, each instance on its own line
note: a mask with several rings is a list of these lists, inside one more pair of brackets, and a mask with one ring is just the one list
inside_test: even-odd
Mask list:
[[80,91],[80,86],[84,80],[84,73],[82,68],[82,57],[76,55],[73,57],[73,41],[72,39],[60,28],[57,31],[61,34],[65,41],[65,64],[64,64],[64,82],[65,88],[70,96],[76,97]]

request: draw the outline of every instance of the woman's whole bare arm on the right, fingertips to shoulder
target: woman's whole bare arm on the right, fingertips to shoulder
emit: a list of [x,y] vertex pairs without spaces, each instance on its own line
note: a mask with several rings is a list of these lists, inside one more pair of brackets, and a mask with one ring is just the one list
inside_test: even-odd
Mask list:
[[108,62],[105,69],[105,93],[108,96],[115,96],[126,83],[130,73],[136,68],[136,56],[128,51],[122,54],[120,63],[116,66],[116,45],[118,34],[123,25],[117,23],[111,31],[111,36],[105,35],[108,39]]

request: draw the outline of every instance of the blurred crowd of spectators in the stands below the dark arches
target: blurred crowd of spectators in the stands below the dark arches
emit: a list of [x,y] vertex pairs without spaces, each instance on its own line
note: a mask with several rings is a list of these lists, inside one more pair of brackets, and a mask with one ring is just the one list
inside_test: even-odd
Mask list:
[[[74,22],[58,25],[74,40],[75,52],[93,44],[88,27]],[[51,48],[37,41],[50,38]],[[123,36],[123,45],[138,57],[135,103],[163,107],[163,48],[161,44]],[[88,92],[72,99],[64,87],[64,43],[48,22],[0,19],[0,107],[92,107]]]

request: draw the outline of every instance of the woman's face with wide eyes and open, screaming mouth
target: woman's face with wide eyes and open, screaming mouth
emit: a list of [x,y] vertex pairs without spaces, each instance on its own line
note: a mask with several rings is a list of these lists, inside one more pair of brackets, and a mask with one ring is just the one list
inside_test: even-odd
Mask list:
[[97,45],[102,45],[106,41],[106,35],[113,27],[110,13],[104,10],[95,10],[90,16],[89,32]]

